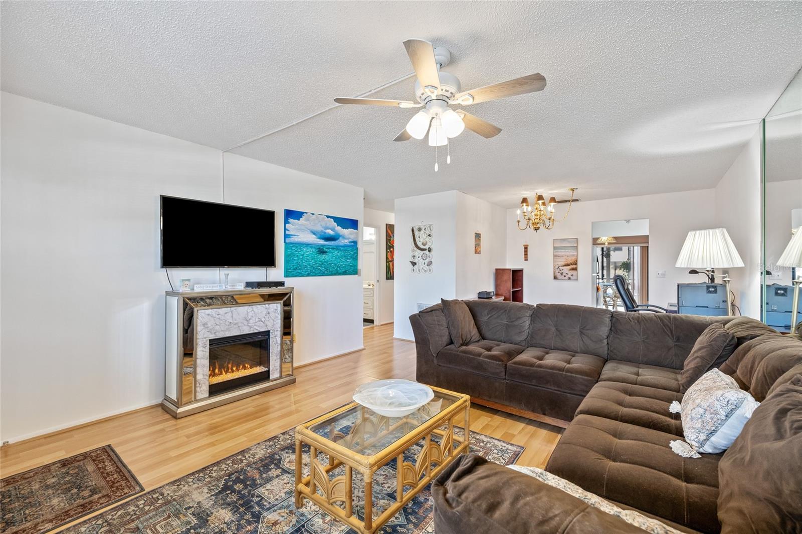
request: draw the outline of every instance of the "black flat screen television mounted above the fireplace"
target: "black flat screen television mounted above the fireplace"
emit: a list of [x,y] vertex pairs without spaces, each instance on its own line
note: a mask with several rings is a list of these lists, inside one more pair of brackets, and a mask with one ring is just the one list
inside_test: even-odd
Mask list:
[[275,267],[276,212],[162,195],[161,266]]

